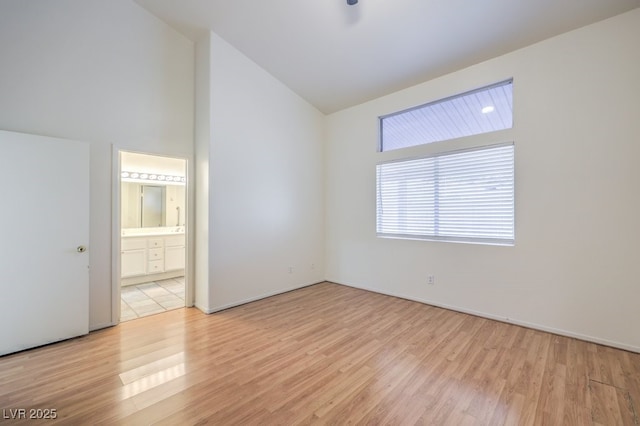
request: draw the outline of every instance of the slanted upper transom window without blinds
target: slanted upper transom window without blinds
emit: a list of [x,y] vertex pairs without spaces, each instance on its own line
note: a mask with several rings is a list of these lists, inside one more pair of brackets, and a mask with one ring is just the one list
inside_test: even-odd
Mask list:
[[380,151],[478,135],[513,126],[513,81],[380,118]]

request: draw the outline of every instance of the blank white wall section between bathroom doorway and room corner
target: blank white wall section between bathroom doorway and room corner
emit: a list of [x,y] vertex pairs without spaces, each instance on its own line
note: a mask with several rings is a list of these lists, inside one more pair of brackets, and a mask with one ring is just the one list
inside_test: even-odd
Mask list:
[[[324,115],[217,35],[197,50],[198,71],[210,67],[210,92],[197,95],[203,111],[210,102],[210,127],[196,127],[211,135],[204,147],[198,137],[196,154],[208,167],[198,209],[208,209],[208,223],[198,219],[208,234],[197,230],[208,240],[197,251],[209,259],[197,274],[208,300],[197,306],[212,312],[322,281]],[[200,269],[207,255],[198,256]]]

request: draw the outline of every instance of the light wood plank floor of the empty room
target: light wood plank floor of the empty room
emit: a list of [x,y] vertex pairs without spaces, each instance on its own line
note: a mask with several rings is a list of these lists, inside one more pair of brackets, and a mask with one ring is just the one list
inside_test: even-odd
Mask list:
[[640,355],[323,283],[2,357],[0,414],[20,408],[55,409],[41,424],[631,425]]

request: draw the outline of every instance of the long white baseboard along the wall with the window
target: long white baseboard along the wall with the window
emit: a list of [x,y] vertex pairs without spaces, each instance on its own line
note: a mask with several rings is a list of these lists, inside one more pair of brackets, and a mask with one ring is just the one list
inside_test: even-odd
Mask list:
[[588,336],[586,334],[574,333],[574,332],[563,330],[563,329],[559,329],[559,328],[547,327],[547,326],[536,324],[536,323],[531,323],[531,322],[527,322],[527,321],[520,321],[520,320],[517,320],[517,319],[508,318],[508,317],[501,317],[501,316],[498,316],[498,315],[488,314],[486,312],[475,311],[473,309],[466,309],[466,308],[461,308],[461,307],[458,307],[458,306],[447,305],[445,303],[433,302],[433,301],[426,300],[426,299],[421,299],[421,298],[418,298],[418,297],[407,296],[407,295],[401,294],[401,293],[386,292],[386,291],[381,291],[379,289],[374,289],[374,288],[371,288],[371,287],[354,285],[354,284],[345,284],[345,283],[332,281],[332,280],[329,280],[329,279],[327,279],[327,282],[330,282],[330,283],[333,283],[333,284],[338,284],[338,285],[343,285],[343,286],[346,286],[346,287],[353,287],[353,288],[357,288],[357,289],[360,289],[360,290],[366,290],[366,291],[370,291],[372,293],[383,294],[385,296],[399,297],[400,299],[406,299],[406,300],[410,300],[412,302],[424,303],[425,305],[430,305],[430,306],[435,306],[435,307],[438,307],[438,308],[448,309],[450,311],[461,312],[463,314],[469,314],[469,315],[474,315],[474,316],[477,316],[477,317],[482,317],[482,318],[486,318],[486,319],[490,319],[490,320],[494,320],[494,321],[504,322],[504,323],[507,323],[507,324],[518,325],[518,326],[521,326],[521,327],[531,328],[533,330],[544,331],[546,333],[551,333],[551,334],[557,334],[559,336],[571,337],[571,338],[574,338],[574,339],[583,340],[585,342],[596,343],[596,344],[604,345],[604,346],[610,346],[612,348],[622,349],[622,350],[629,351],[629,352],[640,353],[640,347],[638,347],[638,346],[628,345],[628,344],[625,344],[625,343],[615,342],[615,341],[607,340],[607,339],[601,339],[599,337]]

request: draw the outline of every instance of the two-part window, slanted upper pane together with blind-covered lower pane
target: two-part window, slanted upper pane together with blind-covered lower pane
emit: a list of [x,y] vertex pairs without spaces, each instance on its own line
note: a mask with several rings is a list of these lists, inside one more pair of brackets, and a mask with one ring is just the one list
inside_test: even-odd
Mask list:
[[[380,117],[380,151],[512,127],[507,80]],[[378,236],[513,245],[514,144],[437,151],[376,166]]]

